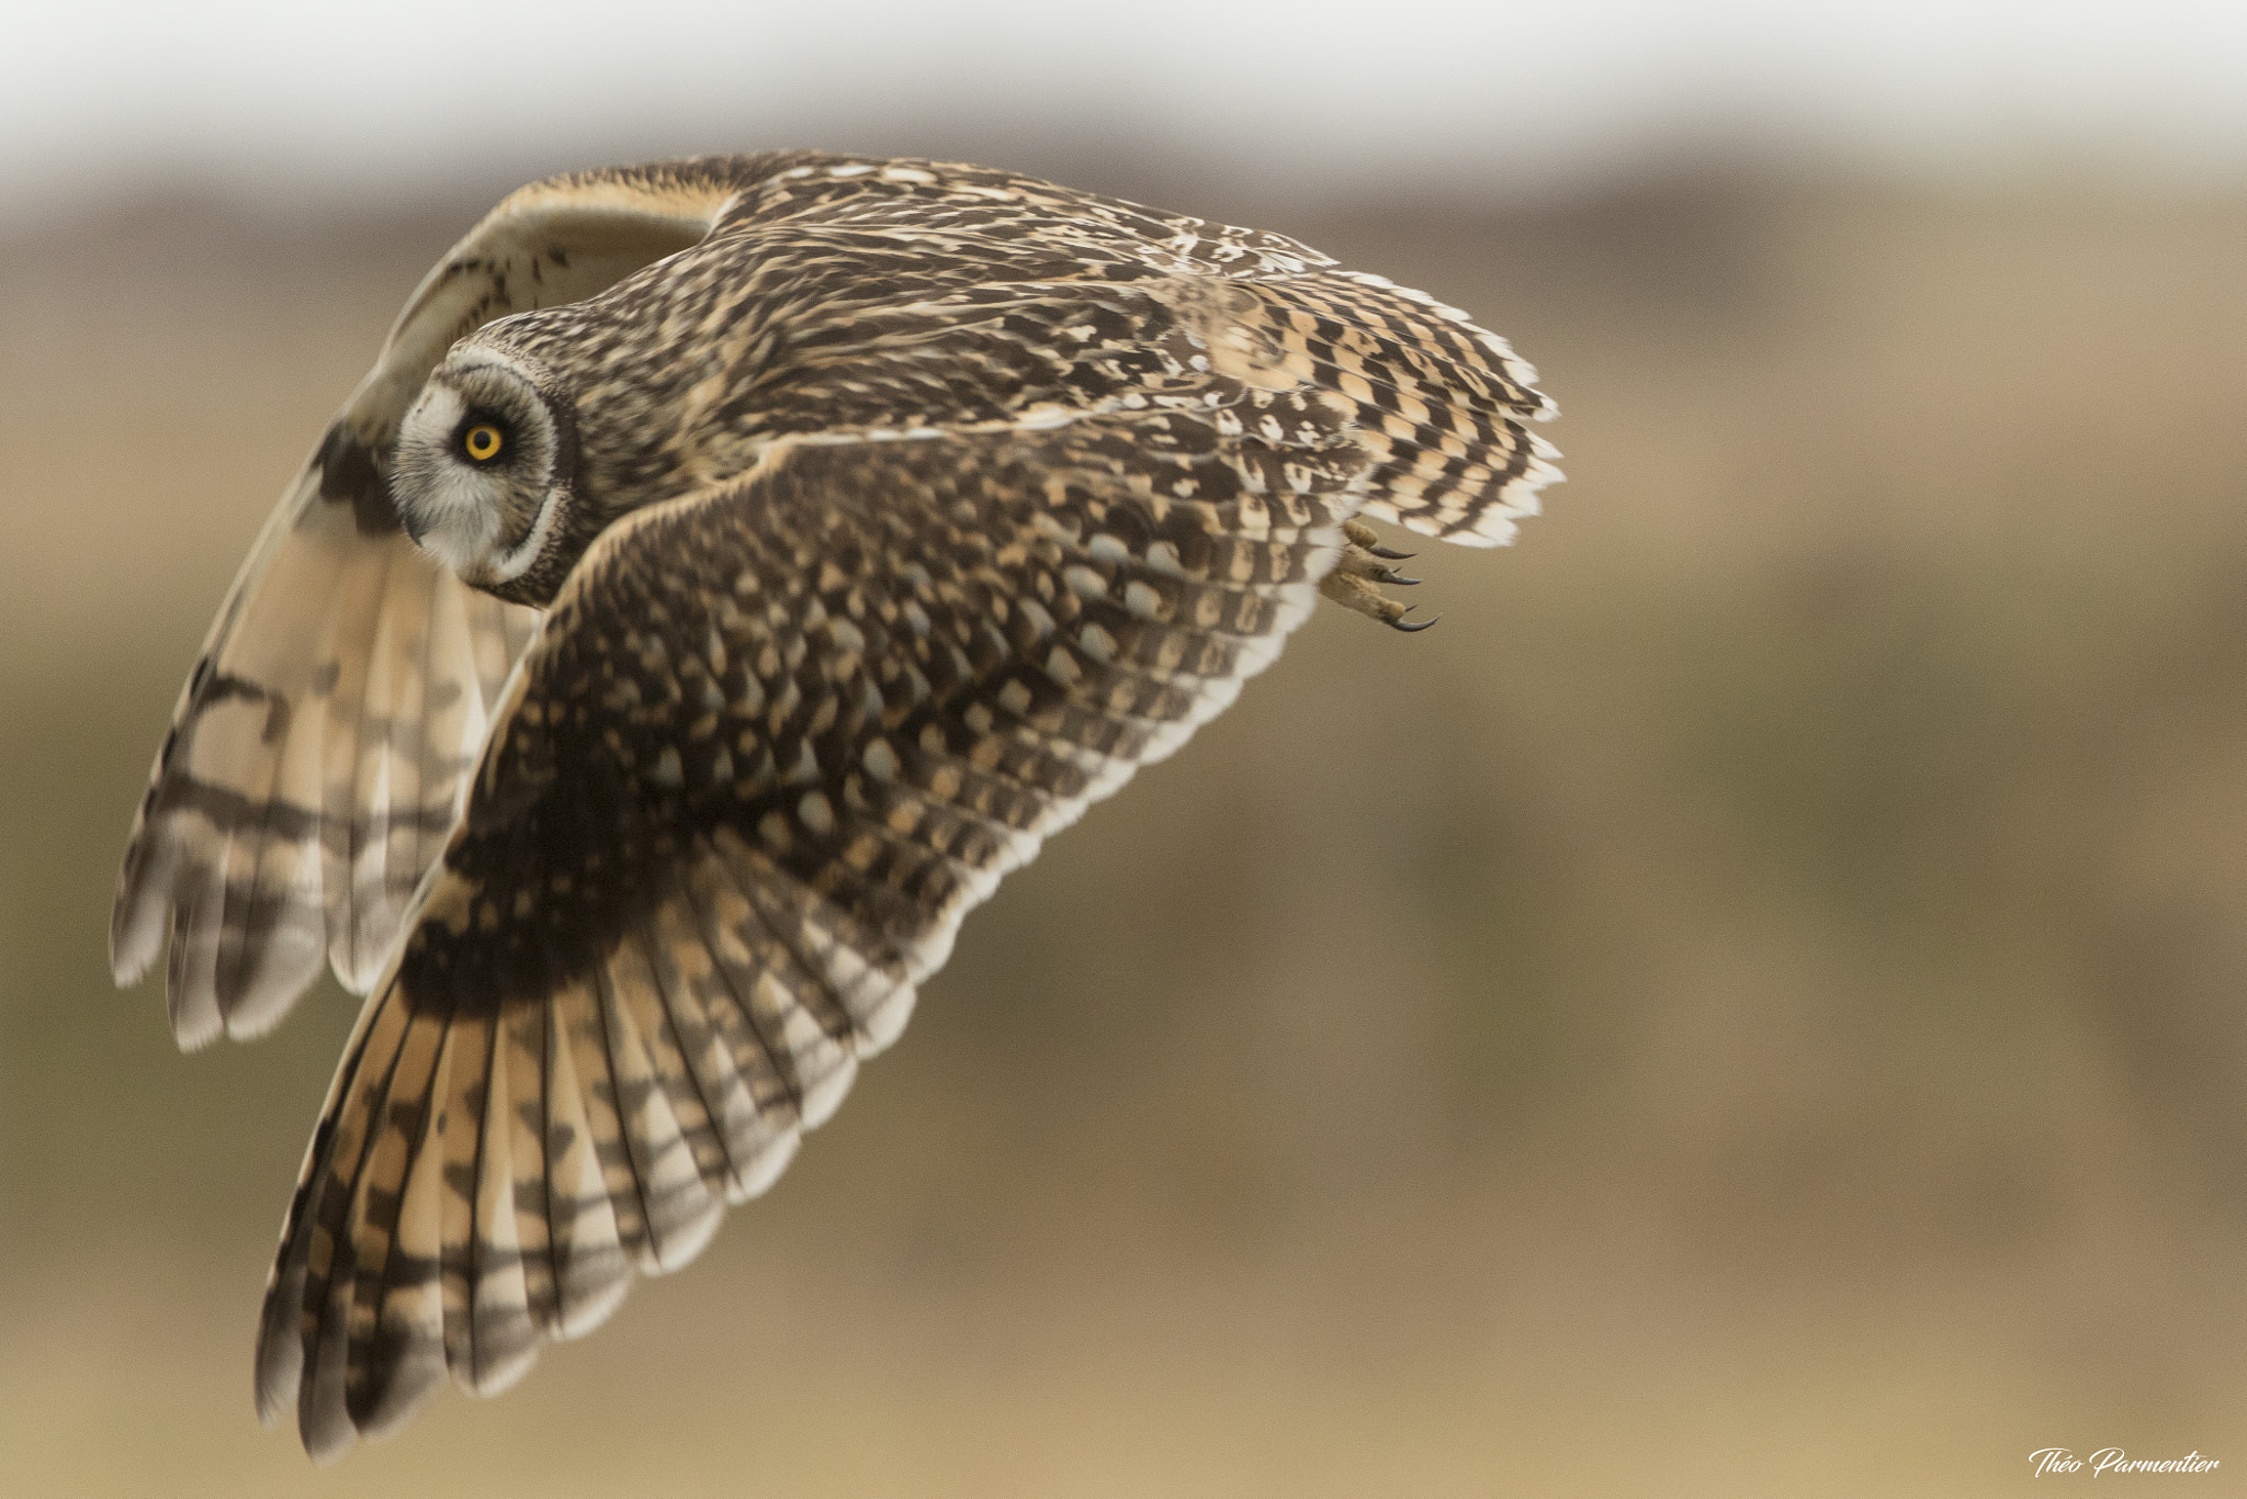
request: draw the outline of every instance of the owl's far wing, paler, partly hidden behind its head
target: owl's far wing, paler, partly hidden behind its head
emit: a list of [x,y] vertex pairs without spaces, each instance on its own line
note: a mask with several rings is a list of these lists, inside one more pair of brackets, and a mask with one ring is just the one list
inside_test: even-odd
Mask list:
[[429,369],[481,324],[573,301],[699,240],[737,191],[683,162],[539,182],[429,272],[283,494],[173,710],[117,881],[110,964],[171,935],[180,1045],[256,1036],[319,978],[364,991],[458,811],[528,609],[398,528],[384,463]]

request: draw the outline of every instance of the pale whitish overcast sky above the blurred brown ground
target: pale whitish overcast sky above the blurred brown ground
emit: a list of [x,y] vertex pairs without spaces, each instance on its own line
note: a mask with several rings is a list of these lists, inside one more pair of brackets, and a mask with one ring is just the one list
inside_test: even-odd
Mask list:
[[0,222],[173,175],[411,193],[818,144],[1553,182],[1679,142],[2247,180],[2243,0],[16,7]]

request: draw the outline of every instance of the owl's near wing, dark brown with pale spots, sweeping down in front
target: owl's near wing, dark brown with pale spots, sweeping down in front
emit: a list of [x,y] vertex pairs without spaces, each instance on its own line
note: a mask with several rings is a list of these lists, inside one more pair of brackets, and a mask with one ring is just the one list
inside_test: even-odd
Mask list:
[[607,533],[330,1088],[261,1414],[333,1456],[690,1259],[962,915],[1279,654],[1359,499],[1344,414],[811,440]]

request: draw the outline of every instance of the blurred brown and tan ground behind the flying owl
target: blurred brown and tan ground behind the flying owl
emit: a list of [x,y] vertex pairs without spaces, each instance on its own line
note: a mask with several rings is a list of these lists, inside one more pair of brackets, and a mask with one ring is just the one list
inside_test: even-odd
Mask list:
[[1076,175],[1470,308],[1571,483],[1011,879],[688,1272],[317,1481],[249,1333],[353,1007],[178,1056],[110,879],[481,205],[0,243],[0,1490],[2247,1492],[2247,193]]

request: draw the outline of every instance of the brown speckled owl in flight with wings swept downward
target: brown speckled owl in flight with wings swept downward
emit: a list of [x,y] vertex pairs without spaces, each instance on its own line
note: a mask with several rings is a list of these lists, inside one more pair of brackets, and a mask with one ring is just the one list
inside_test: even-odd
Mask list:
[[1458,310],[1004,171],[564,175],[429,272],[234,582],[110,930],[182,1047],[364,993],[256,1402],[315,1459],[676,1270],[971,906],[1234,701],[1364,517],[1557,479]]

